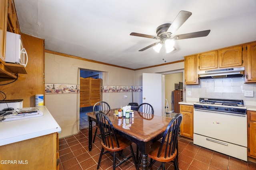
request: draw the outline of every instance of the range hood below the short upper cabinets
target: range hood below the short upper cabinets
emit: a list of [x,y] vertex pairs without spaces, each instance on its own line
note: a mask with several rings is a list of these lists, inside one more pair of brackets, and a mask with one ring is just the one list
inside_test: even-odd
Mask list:
[[198,78],[206,79],[206,78],[243,77],[244,76],[244,72],[243,71],[244,71],[244,67],[198,71]]

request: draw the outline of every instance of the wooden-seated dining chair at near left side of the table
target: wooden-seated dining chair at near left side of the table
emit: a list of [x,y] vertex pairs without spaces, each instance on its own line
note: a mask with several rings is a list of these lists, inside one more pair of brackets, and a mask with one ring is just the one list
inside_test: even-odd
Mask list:
[[[101,138],[102,149],[100,152],[100,158],[99,158],[97,170],[100,167],[100,161],[101,161],[102,155],[106,153],[110,153],[114,158],[113,170],[115,170],[117,166],[124,163],[126,160],[130,159],[131,157],[133,158],[134,164],[136,167],[135,156],[132,149],[132,141],[129,141],[128,139],[116,134],[110,119],[102,111],[96,112],[95,116],[98,122],[98,126],[100,128],[101,136],[102,136]],[[129,146],[132,154],[129,156],[124,156],[124,154],[122,154],[122,150],[126,149],[126,147],[129,147]],[[106,150],[106,152],[104,152],[104,150]],[[112,152],[114,152],[114,154],[112,154]],[[116,157],[116,152],[118,152],[119,155],[123,156],[124,158],[120,160],[118,157]],[[116,160],[118,160],[119,162],[118,164],[116,164]]]

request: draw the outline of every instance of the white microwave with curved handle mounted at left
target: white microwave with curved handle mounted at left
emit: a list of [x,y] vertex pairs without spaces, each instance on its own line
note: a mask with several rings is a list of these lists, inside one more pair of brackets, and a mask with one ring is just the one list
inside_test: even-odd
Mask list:
[[28,54],[23,48],[19,34],[6,32],[5,62],[18,63],[25,67],[28,64]]

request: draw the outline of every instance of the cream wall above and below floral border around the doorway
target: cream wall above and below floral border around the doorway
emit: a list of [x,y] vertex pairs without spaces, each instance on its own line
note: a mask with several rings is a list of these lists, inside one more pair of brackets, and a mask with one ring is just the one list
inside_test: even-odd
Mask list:
[[[102,85],[134,85],[134,70],[92,63],[61,55],[45,53],[45,83],[80,84],[80,68],[98,70],[102,73]],[[128,98],[124,98],[124,94]],[[131,93],[101,93],[102,100],[111,108],[126,106],[132,102]],[[60,137],[79,131],[79,94],[46,94],[45,106],[60,125]]]

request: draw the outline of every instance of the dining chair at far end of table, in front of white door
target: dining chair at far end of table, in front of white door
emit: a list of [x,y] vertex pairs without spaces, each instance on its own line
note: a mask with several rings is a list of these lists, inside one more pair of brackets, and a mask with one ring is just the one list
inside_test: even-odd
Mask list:
[[[142,112],[141,114],[139,113],[140,116],[142,116],[144,119],[151,119],[153,118],[154,115],[154,108],[151,104],[148,103],[142,103],[138,106],[138,111]],[[145,114],[148,113],[148,114]],[[151,116],[152,115],[152,116]],[[138,163],[138,157],[139,157],[139,145],[137,145],[137,150],[136,150],[136,161]]]

